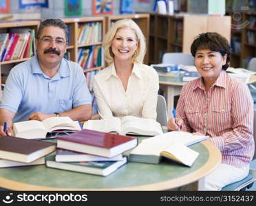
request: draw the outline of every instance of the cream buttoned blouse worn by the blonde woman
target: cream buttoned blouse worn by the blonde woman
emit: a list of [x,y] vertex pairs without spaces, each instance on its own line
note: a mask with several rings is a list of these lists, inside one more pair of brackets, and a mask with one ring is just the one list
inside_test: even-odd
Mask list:
[[127,115],[156,119],[159,80],[152,67],[134,64],[125,91],[112,63],[94,76],[93,89],[103,119]]

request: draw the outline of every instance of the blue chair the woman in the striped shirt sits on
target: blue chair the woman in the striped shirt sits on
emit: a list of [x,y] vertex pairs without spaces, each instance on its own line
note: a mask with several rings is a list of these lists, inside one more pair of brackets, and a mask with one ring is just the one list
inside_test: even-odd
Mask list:
[[[254,119],[253,119],[253,138],[256,148],[256,110],[254,110]],[[256,152],[254,152],[253,161],[256,161]],[[256,181],[256,170],[250,168],[248,176],[246,176],[241,181],[231,183],[222,188],[222,191],[245,191],[253,187],[253,183]]]

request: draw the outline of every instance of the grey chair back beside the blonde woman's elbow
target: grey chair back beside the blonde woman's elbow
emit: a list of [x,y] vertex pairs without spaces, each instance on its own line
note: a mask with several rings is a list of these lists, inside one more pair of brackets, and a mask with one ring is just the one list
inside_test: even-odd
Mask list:
[[156,122],[159,122],[161,126],[167,126],[167,103],[162,95],[158,95],[158,104],[156,106]]

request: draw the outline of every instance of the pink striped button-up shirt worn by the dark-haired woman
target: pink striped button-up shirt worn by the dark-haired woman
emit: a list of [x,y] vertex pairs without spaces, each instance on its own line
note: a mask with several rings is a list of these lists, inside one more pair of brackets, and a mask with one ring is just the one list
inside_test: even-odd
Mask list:
[[208,92],[202,78],[185,84],[177,117],[184,121],[182,130],[211,137],[222,152],[222,163],[240,168],[253,158],[253,98],[244,82],[225,71]]

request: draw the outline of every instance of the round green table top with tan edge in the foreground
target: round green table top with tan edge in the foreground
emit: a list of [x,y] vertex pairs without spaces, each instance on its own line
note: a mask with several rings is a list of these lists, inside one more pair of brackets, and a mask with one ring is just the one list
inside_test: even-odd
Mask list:
[[[109,176],[58,170],[46,165],[1,168],[0,187],[10,190],[166,190],[196,181],[220,163],[219,158],[206,172],[199,172],[209,164],[209,146],[215,147],[210,141],[191,146],[200,152],[191,168],[173,161],[160,164],[128,162]],[[195,176],[190,178],[191,174]]]

